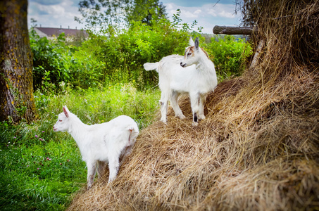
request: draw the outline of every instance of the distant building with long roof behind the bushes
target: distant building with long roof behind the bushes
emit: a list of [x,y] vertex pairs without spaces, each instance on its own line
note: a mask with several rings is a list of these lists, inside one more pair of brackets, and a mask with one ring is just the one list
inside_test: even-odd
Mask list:
[[73,30],[73,29],[63,29],[60,28],[49,28],[49,27],[35,27],[35,32],[39,35],[39,37],[46,37],[48,39],[54,39],[58,37],[61,33],[64,32],[65,37],[67,39],[74,39],[74,38],[83,38],[87,39],[89,34],[85,30]]

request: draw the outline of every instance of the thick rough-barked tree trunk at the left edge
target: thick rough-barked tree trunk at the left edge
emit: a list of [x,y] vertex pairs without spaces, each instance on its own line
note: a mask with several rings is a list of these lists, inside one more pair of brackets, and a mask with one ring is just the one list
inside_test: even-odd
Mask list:
[[27,0],[0,0],[0,120],[36,116]]

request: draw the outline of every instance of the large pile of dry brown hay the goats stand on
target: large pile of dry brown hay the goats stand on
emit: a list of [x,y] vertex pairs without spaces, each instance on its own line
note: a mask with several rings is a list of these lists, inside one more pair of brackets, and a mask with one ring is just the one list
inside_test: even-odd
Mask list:
[[[251,3],[253,2],[253,4]],[[69,210],[318,210],[319,3],[242,2],[258,26],[260,58],[218,84],[206,119],[144,129],[108,185],[108,173]]]

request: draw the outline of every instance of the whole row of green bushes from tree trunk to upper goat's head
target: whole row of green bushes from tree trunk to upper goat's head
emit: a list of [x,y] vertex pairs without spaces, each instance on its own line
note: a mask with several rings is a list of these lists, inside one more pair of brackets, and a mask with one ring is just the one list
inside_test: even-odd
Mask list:
[[[35,89],[53,91],[64,82],[71,87],[98,87],[99,84],[134,82],[139,89],[155,86],[157,73],[146,72],[143,64],[161,60],[173,53],[182,54],[187,46],[187,24],[177,30],[181,19],[152,20],[152,26],[132,22],[129,29],[113,26],[101,34],[90,34],[81,46],[65,44],[64,34],[56,40],[39,38],[32,32],[30,44],[34,55]],[[200,36],[196,32],[193,36]]]

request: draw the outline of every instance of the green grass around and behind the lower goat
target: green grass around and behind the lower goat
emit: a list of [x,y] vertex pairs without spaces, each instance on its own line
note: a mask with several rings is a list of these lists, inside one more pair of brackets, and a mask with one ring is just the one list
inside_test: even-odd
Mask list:
[[132,84],[35,92],[38,120],[15,126],[0,122],[0,210],[65,210],[85,188],[87,170],[75,141],[52,130],[62,106],[86,124],[129,115],[142,129],[154,120],[159,98],[158,89],[137,91]]

